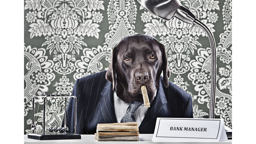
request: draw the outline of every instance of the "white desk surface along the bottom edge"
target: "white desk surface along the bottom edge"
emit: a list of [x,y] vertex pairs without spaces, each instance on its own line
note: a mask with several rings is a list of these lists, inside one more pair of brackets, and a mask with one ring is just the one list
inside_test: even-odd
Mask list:
[[[137,144],[137,143],[167,143],[167,142],[152,142],[153,134],[140,134],[139,141],[97,141],[95,140],[95,135],[81,135],[81,139],[72,139],[72,140],[35,140],[29,139],[27,135],[24,135],[24,144],[46,144],[46,143],[54,143],[54,144],[79,144],[79,143],[86,143],[86,144],[93,144],[93,143],[104,143],[104,144],[114,144],[114,143],[122,143],[122,144]],[[168,142],[172,144],[196,144],[196,142]],[[208,144],[209,142],[200,142],[200,144]],[[211,144],[232,144],[232,140],[226,142],[211,142]]]

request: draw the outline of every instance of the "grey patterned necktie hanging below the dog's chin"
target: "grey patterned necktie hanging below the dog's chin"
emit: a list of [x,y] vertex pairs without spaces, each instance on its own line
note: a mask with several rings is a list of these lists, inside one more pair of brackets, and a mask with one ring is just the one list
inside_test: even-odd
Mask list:
[[122,122],[136,122],[133,114],[134,112],[142,105],[142,103],[137,101],[130,102],[130,109],[129,111],[124,115],[124,117],[121,119]]

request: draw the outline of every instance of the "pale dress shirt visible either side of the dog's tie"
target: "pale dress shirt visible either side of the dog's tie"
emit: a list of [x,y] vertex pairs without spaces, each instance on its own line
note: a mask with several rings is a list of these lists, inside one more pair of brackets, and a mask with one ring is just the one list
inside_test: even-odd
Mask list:
[[[129,111],[130,103],[124,102],[121,100],[117,94],[116,90],[114,91],[114,109],[116,114],[116,120],[118,123],[121,122],[121,119],[123,116]],[[155,91],[156,96],[156,91]],[[140,126],[142,120],[144,119],[146,113],[148,111],[148,108],[145,108],[144,104],[142,104],[133,114],[135,121],[138,123],[138,126]]]

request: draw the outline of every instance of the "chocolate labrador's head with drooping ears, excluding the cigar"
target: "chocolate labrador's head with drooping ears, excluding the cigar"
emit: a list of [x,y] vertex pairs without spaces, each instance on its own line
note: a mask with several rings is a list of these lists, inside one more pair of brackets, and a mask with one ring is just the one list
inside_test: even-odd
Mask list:
[[140,88],[145,85],[152,102],[162,71],[164,85],[168,87],[170,69],[164,45],[152,36],[135,34],[124,37],[113,49],[106,79],[113,83],[113,91],[116,88],[123,101],[143,102]]

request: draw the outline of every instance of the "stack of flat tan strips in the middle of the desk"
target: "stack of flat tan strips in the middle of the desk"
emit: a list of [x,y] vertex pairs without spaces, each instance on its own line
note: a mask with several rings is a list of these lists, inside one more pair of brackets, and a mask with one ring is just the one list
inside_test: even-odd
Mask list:
[[98,141],[139,141],[137,122],[98,124],[95,133]]

